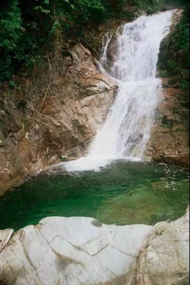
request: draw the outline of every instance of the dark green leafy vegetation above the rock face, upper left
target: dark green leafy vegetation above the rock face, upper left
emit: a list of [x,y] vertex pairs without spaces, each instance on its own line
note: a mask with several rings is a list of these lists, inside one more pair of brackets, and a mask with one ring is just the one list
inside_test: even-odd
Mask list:
[[138,9],[156,12],[162,4],[163,0],[2,0],[0,81],[8,80],[13,87],[13,74],[35,71],[48,49],[56,52],[68,35],[80,37],[89,24],[132,17]]

